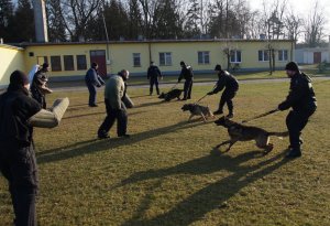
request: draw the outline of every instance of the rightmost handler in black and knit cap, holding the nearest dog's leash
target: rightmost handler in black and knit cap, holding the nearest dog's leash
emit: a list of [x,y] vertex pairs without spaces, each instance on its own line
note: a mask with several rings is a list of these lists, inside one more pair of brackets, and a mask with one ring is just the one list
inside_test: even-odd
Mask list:
[[295,62],[289,62],[285,69],[290,78],[290,90],[286,99],[277,108],[279,110],[292,108],[286,117],[290,142],[287,157],[296,158],[301,155],[301,130],[307,125],[309,117],[316,111],[317,100],[310,77],[301,73]]

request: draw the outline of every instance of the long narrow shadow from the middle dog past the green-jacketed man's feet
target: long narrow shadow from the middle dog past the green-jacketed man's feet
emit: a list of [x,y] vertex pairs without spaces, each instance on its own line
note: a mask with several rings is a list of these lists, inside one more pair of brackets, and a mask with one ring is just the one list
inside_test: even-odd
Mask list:
[[[194,122],[194,123],[191,123]],[[178,123],[168,126],[168,127],[163,127],[163,128],[157,128],[154,130],[148,130],[144,132],[139,132],[131,134],[130,139],[125,138],[112,138],[112,139],[105,139],[105,140],[88,140],[88,141],[82,141],[78,144],[70,144],[67,147],[63,148],[57,148],[57,149],[51,149],[51,150],[45,150],[40,152],[37,157],[37,162],[38,163],[47,163],[47,162],[54,162],[54,161],[62,161],[75,157],[79,157],[82,154],[88,154],[88,153],[94,153],[94,152],[99,152],[99,151],[105,151],[109,149],[116,149],[121,146],[131,146],[133,143],[138,143],[140,141],[155,138],[165,133],[174,132],[177,130],[182,129],[189,129],[194,127],[199,127],[204,126],[207,123],[212,123],[212,121],[209,122],[202,122],[202,121],[197,121],[197,120],[191,120],[191,122],[187,121],[180,121]],[[113,129],[113,128],[112,128]],[[81,146],[82,144],[82,146]],[[46,154],[44,154],[46,153]]]

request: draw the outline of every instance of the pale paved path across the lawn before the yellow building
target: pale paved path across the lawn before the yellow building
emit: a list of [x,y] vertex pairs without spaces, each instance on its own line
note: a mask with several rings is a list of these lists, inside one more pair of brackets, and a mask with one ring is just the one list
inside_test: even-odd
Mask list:
[[[314,77],[314,82],[329,80],[330,77]],[[289,82],[289,78],[264,78],[264,79],[241,79],[240,84],[263,84],[263,83],[283,83]],[[129,80],[130,84],[130,80]],[[178,87],[183,86],[184,83],[178,84]],[[211,86],[215,85],[216,82],[195,82],[194,86]],[[51,84],[52,85],[52,84]],[[173,87],[175,83],[160,83],[161,87]],[[52,87],[52,86],[51,86]],[[148,88],[148,85],[129,85],[130,89],[132,88]],[[105,87],[101,87],[99,90],[103,90]],[[87,92],[86,86],[70,86],[70,87],[56,87],[53,88],[54,92]]]

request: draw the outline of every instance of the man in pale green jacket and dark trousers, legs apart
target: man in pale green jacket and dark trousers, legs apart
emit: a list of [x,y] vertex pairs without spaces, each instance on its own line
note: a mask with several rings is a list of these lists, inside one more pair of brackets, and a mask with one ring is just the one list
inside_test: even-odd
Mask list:
[[98,138],[110,138],[109,130],[117,119],[117,134],[118,137],[129,138],[127,133],[128,128],[128,112],[123,103],[127,94],[127,80],[129,78],[129,71],[122,69],[118,75],[111,76],[106,83],[105,104],[107,109],[107,117],[98,130]]

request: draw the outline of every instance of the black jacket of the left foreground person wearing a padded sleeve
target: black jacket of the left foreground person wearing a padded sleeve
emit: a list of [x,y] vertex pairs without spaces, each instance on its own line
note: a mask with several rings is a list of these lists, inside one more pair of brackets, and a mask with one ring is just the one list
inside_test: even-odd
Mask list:
[[32,127],[28,119],[41,110],[23,87],[9,86],[0,96],[0,147],[28,147],[32,142]]

